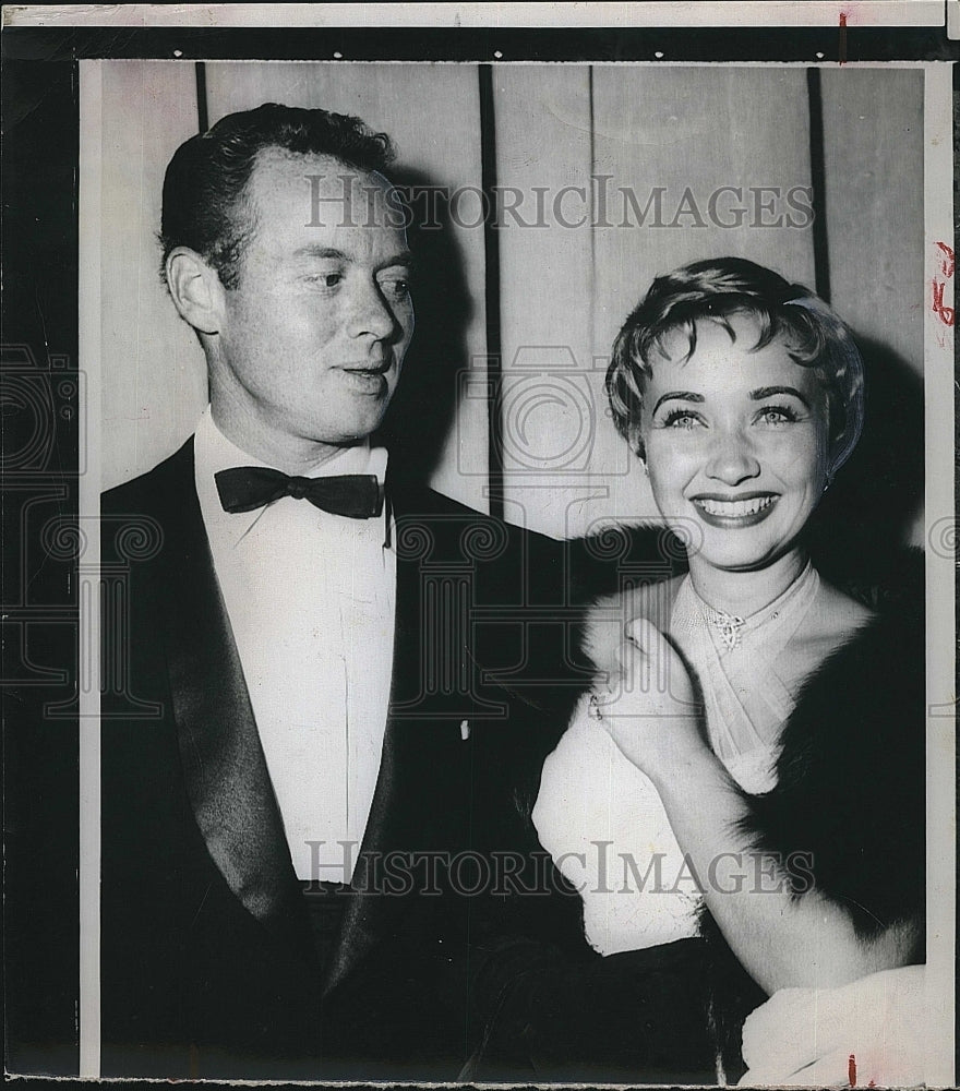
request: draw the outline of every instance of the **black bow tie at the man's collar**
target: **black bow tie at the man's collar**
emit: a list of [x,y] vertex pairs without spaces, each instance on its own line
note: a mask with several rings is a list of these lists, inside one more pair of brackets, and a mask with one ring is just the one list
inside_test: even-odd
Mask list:
[[371,519],[383,511],[383,489],[373,473],[289,477],[262,466],[238,466],[214,475],[225,512],[252,512],[283,496],[309,500],[314,507],[350,519]]

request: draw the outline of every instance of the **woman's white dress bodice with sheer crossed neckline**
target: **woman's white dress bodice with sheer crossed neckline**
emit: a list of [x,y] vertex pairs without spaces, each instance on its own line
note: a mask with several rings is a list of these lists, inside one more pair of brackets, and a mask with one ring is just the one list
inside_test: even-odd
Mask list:
[[[605,632],[598,639],[595,631],[591,643],[619,643],[637,603],[646,603],[640,612],[655,624],[669,619],[659,627],[696,675],[713,752],[744,791],[757,794],[776,783],[780,729],[803,681],[790,642],[819,588],[807,565],[775,602],[742,620],[711,611],[686,576],[665,607],[662,596],[616,600],[593,621]],[[543,765],[533,825],[580,891],[586,936],[601,955],[697,934],[701,896],[660,796],[590,715],[588,696]]]

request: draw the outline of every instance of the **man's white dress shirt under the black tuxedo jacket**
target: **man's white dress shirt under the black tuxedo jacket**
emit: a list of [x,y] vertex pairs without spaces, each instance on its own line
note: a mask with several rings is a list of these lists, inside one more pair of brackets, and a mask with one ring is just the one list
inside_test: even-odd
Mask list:
[[[204,410],[196,494],[290,856],[301,879],[347,883],[370,815],[389,704],[396,554],[388,515],[350,519],[285,496],[224,511],[214,475],[264,466]],[[375,473],[350,447],[304,477]],[[341,842],[347,842],[346,847]]]

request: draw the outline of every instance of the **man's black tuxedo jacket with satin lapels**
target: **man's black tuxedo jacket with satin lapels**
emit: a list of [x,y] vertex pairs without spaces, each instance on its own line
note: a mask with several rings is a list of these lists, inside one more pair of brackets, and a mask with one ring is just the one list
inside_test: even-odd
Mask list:
[[398,473],[387,495],[389,714],[353,890],[329,896],[346,901],[322,964],[192,440],[103,497],[105,1076],[440,1079],[472,1048],[468,978],[502,901],[481,860],[529,847],[515,800],[536,798],[586,679],[568,651],[577,595],[559,543]]

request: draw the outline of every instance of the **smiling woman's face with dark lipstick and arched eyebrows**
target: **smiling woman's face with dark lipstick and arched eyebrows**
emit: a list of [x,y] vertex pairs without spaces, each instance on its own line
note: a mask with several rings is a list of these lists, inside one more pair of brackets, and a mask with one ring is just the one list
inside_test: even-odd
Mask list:
[[[749,315],[697,322],[689,359],[683,332],[655,356],[641,434],[660,514],[716,568],[764,568],[787,553],[827,480],[826,395]],[[693,533],[691,535],[689,531]],[[697,548],[698,547],[698,548]]]

